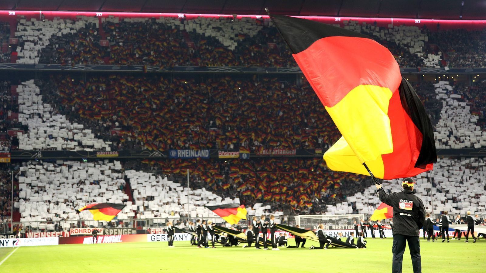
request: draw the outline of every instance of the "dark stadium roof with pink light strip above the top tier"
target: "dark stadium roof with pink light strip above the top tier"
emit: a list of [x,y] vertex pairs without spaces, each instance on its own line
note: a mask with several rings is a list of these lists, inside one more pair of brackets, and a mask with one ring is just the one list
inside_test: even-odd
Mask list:
[[2,10],[486,19],[486,0],[2,0]]

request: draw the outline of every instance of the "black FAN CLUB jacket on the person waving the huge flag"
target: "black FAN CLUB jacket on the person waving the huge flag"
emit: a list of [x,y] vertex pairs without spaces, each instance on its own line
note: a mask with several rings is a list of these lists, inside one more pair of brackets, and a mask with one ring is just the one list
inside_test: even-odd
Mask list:
[[386,194],[380,188],[376,194],[380,201],[393,207],[393,235],[419,236],[418,230],[425,222],[425,207],[412,190],[404,188]]

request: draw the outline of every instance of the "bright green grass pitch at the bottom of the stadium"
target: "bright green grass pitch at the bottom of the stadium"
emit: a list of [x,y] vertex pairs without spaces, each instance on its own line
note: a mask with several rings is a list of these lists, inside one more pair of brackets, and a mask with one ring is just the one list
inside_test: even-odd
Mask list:
[[[392,239],[367,239],[366,249],[309,250],[285,248],[265,251],[254,248],[204,249],[189,242],[70,244],[18,247],[0,265],[0,272],[390,272]],[[289,240],[294,245],[293,239]],[[426,242],[420,240],[422,272],[484,272],[486,240]],[[0,248],[0,261],[13,248]],[[403,272],[412,272],[408,248]]]

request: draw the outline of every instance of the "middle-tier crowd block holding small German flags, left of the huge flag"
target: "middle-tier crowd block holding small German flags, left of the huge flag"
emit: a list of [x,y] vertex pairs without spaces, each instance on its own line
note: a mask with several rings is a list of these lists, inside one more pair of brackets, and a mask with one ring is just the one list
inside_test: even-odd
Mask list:
[[339,137],[321,131],[332,120],[308,84],[277,78],[59,75],[41,89],[59,113],[102,137],[120,128],[111,136],[119,149],[313,149]]

